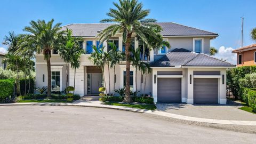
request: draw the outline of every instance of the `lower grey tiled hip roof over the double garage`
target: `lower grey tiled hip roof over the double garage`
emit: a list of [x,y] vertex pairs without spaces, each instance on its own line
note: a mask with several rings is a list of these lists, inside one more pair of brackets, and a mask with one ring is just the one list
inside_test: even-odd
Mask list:
[[151,67],[235,67],[235,65],[213,58],[207,54],[195,53],[185,49],[174,49],[161,59],[150,63]]

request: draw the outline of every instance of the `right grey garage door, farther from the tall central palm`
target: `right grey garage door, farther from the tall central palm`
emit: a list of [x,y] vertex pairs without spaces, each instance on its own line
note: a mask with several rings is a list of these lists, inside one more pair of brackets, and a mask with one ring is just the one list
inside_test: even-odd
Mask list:
[[218,103],[218,78],[194,78],[194,103]]

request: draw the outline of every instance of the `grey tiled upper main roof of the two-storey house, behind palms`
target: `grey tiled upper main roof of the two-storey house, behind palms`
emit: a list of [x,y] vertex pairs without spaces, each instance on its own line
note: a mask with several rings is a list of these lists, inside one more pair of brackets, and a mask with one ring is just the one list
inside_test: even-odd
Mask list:
[[[162,26],[163,31],[161,34],[163,36],[218,36],[216,33],[211,33],[209,31],[192,28],[184,25],[180,25],[174,22],[157,22],[158,25]],[[108,26],[114,25],[114,23],[74,23],[62,27],[62,30],[66,28],[73,30],[74,36],[96,36],[99,31],[107,28]]]

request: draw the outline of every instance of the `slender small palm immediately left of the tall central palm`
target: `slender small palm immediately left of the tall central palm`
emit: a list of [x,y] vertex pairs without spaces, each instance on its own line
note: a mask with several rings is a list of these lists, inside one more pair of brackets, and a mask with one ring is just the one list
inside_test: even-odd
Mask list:
[[[121,51],[118,51],[114,43],[109,43],[109,46],[111,47],[111,50],[109,51],[110,68],[114,67],[114,84],[113,84],[114,89],[113,90],[115,91],[116,65],[123,60],[124,54]],[[114,92],[113,92],[113,96],[114,96]]]

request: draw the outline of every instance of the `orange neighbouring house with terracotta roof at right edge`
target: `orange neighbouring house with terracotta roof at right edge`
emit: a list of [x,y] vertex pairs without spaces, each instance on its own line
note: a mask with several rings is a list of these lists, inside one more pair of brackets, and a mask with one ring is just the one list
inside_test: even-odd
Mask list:
[[237,54],[237,66],[256,66],[256,44],[232,51]]

